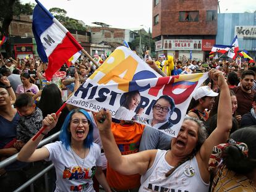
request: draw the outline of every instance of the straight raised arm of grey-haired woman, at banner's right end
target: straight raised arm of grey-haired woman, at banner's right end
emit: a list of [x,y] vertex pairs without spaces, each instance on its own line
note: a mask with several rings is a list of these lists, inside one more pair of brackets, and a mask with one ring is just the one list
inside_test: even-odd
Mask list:
[[224,79],[223,73],[218,70],[210,70],[209,77],[213,79],[220,88],[220,100],[218,104],[217,127],[211,135],[208,136],[197,154],[205,170],[208,170],[208,161],[213,147],[220,143],[225,143],[228,140],[229,131],[232,128],[232,106],[228,84]]

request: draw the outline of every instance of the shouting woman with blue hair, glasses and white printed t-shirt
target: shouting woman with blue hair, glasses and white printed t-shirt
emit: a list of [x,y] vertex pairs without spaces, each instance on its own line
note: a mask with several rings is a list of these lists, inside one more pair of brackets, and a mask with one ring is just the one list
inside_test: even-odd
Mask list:
[[52,161],[56,169],[55,191],[94,191],[92,178],[110,191],[105,175],[101,171],[100,146],[93,143],[93,123],[83,109],[69,112],[64,121],[60,141],[36,149],[43,136],[55,127],[59,115],[47,115],[43,120],[45,131],[33,141],[28,141],[19,152],[18,160],[34,162],[45,159]]

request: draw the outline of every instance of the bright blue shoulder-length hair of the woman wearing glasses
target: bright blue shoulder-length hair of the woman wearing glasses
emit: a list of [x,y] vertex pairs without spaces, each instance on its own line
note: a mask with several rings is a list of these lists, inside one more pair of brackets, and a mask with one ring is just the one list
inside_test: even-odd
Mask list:
[[92,119],[91,119],[90,115],[88,114],[88,112],[86,112],[83,109],[74,109],[74,110],[70,111],[69,114],[67,114],[67,117],[61,127],[61,133],[59,134],[59,140],[61,140],[62,144],[64,144],[66,149],[69,149],[70,144],[71,144],[71,133],[69,131],[70,120],[75,113],[81,113],[81,114],[85,115],[85,117],[88,120],[90,120],[88,135],[85,138],[85,140],[83,141],[83,146],[85,146],[85,148],[90,148],[90,146],[93,143],[93,122],[92,122]]

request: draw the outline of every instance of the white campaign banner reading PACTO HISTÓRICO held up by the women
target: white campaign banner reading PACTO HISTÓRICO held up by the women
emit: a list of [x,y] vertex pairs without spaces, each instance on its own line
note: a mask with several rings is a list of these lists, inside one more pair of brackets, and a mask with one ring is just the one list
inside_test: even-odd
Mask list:
[[130,49],[117,48],[67,104],[133,120],[177,136],[194,91],[208,73],[161,77]]

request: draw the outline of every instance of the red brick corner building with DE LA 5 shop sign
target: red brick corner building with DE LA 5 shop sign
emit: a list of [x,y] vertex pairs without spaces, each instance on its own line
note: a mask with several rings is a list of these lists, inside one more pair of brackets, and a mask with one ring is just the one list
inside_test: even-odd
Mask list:
[[204,60],[215,44],[218,0],[152,0],[158,56]]

